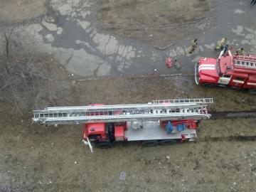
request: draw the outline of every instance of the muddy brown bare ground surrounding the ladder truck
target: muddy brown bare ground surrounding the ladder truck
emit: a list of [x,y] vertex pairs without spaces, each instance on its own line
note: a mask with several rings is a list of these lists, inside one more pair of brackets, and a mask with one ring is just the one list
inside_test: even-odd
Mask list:
[[[205,90],[196,86],[192,77],[80,80],[63,73],[58,65],[50,66],[55,66],[53,74],[60,75],[55,84],[49,81],[43,86],[43,90],[49,86],[51,92],[39,97],[38,109],[50,105],[214,97],[212,111],[225,111],[225,106],[229,111],[255,110],[253,95],[225,88]],[[55,89],[58,82],[63,83],[65,90]],[[198,142],[152,148],[144,148],[139,142],[116,144],[112,149],[95,149],[91,154],[81,142],[82,126],[31,124],[31,113],[20,117],[9,105],[0,112],[3,162],[0,191],[253,191],[255,188],[255,142],[203,139],[241,133],[255,136],[255,119],[205,120],[198,129]],[[121,171],[127,173],[126,181],[119,180]]]

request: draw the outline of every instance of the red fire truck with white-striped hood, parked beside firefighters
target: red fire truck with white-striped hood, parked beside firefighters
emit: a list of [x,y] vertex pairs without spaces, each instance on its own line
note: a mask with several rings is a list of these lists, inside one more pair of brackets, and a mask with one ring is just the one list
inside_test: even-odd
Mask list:
[[232,55],[223,50],[218,58],[200,58],[195,80],[205,87],[242,88],[256,94],[256,55]]

